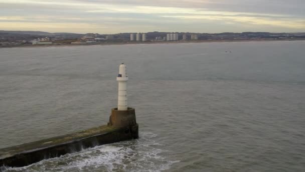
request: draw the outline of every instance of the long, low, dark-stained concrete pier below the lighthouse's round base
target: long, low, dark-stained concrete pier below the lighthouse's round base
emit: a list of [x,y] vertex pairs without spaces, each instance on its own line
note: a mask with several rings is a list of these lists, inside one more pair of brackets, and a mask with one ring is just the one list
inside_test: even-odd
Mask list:
[[59,157],[89,147],[135,138],[138,138],[137,124],[121,128],[104,125],[73,134],[0,149],[0,166],[26,166],[43,159]]

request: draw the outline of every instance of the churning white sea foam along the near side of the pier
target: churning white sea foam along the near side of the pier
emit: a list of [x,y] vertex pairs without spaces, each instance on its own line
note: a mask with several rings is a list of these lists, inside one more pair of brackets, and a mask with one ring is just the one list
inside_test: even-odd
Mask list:
[[178,161],[161,155],[166,152],[158,148],[156,134],[143,133],[137,140],[96,146],[42,160],[29,166],[7,168],[5,171],[161,171]]

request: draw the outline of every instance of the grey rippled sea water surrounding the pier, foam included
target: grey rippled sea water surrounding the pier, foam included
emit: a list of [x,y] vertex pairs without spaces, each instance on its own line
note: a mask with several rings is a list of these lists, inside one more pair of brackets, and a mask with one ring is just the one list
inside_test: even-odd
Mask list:
[[2,48],[0,148],[106,124],[121,62],[140,132],[6,171],[304,171],[304,48],[305,41]]

